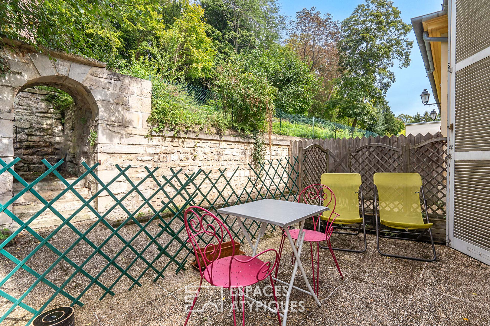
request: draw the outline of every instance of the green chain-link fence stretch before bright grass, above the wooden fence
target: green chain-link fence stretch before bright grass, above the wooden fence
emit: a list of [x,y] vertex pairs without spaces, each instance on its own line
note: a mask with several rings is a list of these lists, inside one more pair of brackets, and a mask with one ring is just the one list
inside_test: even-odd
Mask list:
[[272,130],[276,134],[304,138],[375,137],[378,135],[372,131],[351,128],[325,119],[302,114],[288,114],[280,109],[276,110]]

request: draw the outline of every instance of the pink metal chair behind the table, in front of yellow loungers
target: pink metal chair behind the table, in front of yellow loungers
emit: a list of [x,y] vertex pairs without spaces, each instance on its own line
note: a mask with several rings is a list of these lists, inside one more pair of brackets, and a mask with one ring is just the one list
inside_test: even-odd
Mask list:
[[[340,216],[339,214],[335,213],[335,204],[336,204],[336,199],[333,191],[328,188],[325,185],[322,184],[313,184],[305,189],[299,194],[298,201],[302,201],[305,204],[311,204],[311,205],[320,205],[320,206],[328,206],[330,208],[330,215],[328,217],[328,221],[321,221],[320,216],[323,214],[323,216],[326,216],[327,212],[323,212],[318,215],[318,217],[312,216],[313,218],[313,230],[303,230],[305,232],[305,238],[304,241],[310,242],[310,249],[311,249],[311,265],[312,265],[312,272],[313,272],[313,290],[315,291],[315,294],[318,295],[319,292],[319,260],[320,260],[320,246],[319,243],[320,241],[326,241],[328,248],[330,249],[330,253],[332,254],[332,258],[334,259],[335,264],[337,265],[337,270],[339,271],[339,274],[341,278],[343,279],[342,272],[340,270],[339,263],[337,262],[337,258],[335,258],[334,251],[332,250],[332,245],[330,244],[330,236],[332,235],[333,232],[333,221],[335,218]],[[333,218],[332,218],[333,217]],[[325,232],[320,232],[320,225],[323,224],[325,226]],[[318,231],[316,231],[318,230]],[[291,238],[294,239],[294,243],[296,243],[296,240],[299,238],[299,230],[294,229],[290,230],[289,233],[291,234]],[[283,234],[282,239],[281,239],[281,244],[279,246],[279,261],[276,266],[275,270],[275,278],[277,278],[277,273],[279,271],[279,264],[281,262],[281,256],[282,256],[282,249],[284,247],[284,241],[286,239],[286,234]],[[317,274],[315,277],[315,262],[313,260],[313,242],[317,243]],[[291,260],[291,264],[294,264],[294,256]]]

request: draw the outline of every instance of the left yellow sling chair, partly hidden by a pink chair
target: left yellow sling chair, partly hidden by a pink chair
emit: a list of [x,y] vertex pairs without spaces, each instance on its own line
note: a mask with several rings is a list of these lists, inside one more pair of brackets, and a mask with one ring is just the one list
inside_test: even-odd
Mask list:
[[[340,214],[334,221],[335,229],[352,230],[352,232],[334,231],[333,233],[358,235],[361,232],[361,225],[364,232],[364,249],[354,250],[345,248],[332,248],[334,250],[350,251],[350,252],[365,252],[366,245],[366,228],[364,225],[364,198],[363,187],[361,184],[361,175],[358,173],[324,173],[321,175],[320,182],[322,185],[332,189],[335,195],[335,213]],[[361,211],[362,217],[359,217],[359,196],[361,196]],[[327,204],[326,202],[324,203]],[[331,204],[330,204],[331,205]],[[321,216],[322,220],[328,220],[328,216]],[[340,226],[348,224],[359,224],[358,227]],[[326,249],[320,244],[320,247]]]

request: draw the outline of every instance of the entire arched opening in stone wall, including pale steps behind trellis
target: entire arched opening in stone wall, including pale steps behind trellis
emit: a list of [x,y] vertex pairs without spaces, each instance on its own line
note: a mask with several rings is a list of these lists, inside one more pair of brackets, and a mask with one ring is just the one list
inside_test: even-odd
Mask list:
[[[82,162],[93,166],[97,161],[95,141],[98,130],[98,107],[92,94],[81,83],[65,76],[45,76],[31,80],[21,87],[14,99],[14,156],[21,158],[15,171],[27,182],[43,174],[48,168],[46,159],[54,165],[64,162],[56,169],[70,184],[86,172]],[[47,201],[60,194],[66,185],[54,174],[49,174],[34,186]],[[14,180],[13,194],[25,187]],[[85,200],[97,191],[94,177],[86,176],[73,189]],[[41,205],[41,206],[40,206]],[[57,198],[52,205],[59,214],[69,217],[80,207],[81,201],[72,192]],[[25,193],[13,203],[13,213],[22,220],[36,214],[44,203]],[[72,218],[72,222],[93,218],[83,209]],[[29,224],[44,228],[59,225],[61,219],[45,210]]]

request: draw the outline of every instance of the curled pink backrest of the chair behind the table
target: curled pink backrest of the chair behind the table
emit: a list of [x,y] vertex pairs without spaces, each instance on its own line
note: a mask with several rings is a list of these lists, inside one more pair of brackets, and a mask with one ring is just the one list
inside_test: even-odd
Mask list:
[[[328,208],[330,208],[330,211],[323,212],[323,216],[326,216],[326,214],[330,212],[328,222],[325,227],[325,234],[327,238],[329,238],[333,232],[333,221],[335,218],[340,216],[339,214],[335,213],[335,205],[337,201],[332,189],[320,183],[309,185],[299,194],[298,201],[310,205],[328,206]],[[313,230],[318,229],[320,216],[321,214],[319,214],[318,217],[312,216]]]

